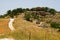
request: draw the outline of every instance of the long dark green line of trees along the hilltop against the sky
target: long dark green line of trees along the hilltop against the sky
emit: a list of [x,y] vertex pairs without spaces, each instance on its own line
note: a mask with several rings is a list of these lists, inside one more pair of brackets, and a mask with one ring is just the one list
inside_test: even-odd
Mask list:
[[24,13],[25,11],[44,11],[44,12],[49,12],[52,15],[56,14],[56,12],[57,12],[55,9],[48,8],[48,7],[35,7],[35,8],[31,8],[31,9],[17,8],[17,9],[13,9],[13,10],[8,10],[6,14],[4,14],[2,16],[0,15],[0,18],[5,18],[6,16],[9,16],[9,17],[18,16],[19,14]]

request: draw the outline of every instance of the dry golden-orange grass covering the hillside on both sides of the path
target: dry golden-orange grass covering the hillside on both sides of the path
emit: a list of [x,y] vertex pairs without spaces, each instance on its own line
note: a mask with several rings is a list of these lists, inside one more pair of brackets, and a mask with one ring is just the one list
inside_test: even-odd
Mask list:
[[[43,19],[44,21],[52,19],[60,23],[59,17],[60,14],[56,14],[54,17],[45,17]],[[38,27],[38,24],[24,20],[24,14],[18,15],[14,19],[13,25],[16,29],[15,32],[11,32],[8,28],[9,19],[0,19],[0,32],[1,34],[5,34],[1,35],[0,38],[7,37],[16,40],[60,40],[60,32],[57,32],[56,29]]]

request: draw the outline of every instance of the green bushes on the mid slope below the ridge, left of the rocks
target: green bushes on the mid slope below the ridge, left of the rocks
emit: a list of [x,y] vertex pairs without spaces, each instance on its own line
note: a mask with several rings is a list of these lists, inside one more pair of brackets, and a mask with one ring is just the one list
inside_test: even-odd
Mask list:
[[25,15],[24,15],[24,18],[25,18],[25,20],[27,20],[27,21],[33,21],[33,20],[39,20],[39,16],[38,15],[36,15],[35,13],[30,13],[30,12],[25,12]]

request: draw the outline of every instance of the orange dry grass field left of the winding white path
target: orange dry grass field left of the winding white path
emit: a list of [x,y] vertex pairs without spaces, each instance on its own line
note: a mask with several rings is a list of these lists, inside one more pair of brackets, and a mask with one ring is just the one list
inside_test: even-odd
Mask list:
[[9,33],[10,30],[8,28],[8,22],[9,19],[0,19],[0,34],[4,34],[4,33]]

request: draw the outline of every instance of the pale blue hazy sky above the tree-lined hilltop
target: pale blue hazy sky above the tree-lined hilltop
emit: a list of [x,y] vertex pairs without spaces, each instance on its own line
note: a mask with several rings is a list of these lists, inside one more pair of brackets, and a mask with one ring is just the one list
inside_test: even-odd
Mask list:
[[0,15],[16,8],[50,7],[60,11],[60,0],[0,0]]

